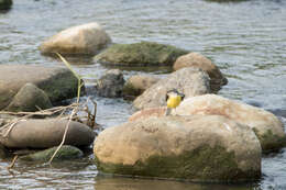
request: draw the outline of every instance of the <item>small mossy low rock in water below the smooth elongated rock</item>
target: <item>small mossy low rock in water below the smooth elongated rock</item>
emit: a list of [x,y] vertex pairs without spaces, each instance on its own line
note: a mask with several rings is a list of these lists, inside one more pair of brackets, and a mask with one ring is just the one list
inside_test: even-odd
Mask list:
[[[45,150],[41,150],[37,153],[33,153],[30,155],[21,156],[21,160],[25,161],[48,161],[52,156],[54,155],[55,150],[57,149],[56,147],[48,148]],[[62,161],[62,160],[67,160],[67,159],[77,159],[84,156],[84,153],[78,149],[77,147],[69,146],[69,145],[64,145],[59,148],[57,154],[54,157],[54,161]]]

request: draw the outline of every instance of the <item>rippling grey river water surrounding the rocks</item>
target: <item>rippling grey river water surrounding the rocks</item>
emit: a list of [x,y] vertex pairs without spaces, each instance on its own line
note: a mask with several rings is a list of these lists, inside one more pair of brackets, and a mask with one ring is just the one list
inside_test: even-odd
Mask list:
[[[0,13],[0,64],[59,67],[61,62],[41,56],[38,45],[63,29],[88,22],[103,25],[114,43],[154,41],[201,53],[229,79],[219,94],[273,111],[286,124],[286,1],[14,0],[10,11]],[[91,62],[74,68],[87,81],[107,70]],[[124,70],[125,77],[139,72]],[[132,114],[122,99],[92,98],[105,127]],[[286,149],[264,155],[262,179],[242,185],[101,176],[92,155],[52,166],[16,163],[10,172],[8,165],[0,160],[0,189],[286,189]]]

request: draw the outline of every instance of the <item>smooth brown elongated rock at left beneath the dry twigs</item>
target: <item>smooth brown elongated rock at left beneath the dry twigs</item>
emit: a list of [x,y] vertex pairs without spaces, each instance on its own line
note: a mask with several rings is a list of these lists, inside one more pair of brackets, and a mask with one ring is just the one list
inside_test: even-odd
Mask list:
[[[63,139],[67,122],[67,120],[61,119],[19,121],[7,137],[0,138],[0,143],[10,148],[48,148],[57,146]],[[95,132],[90,127],[74,121],[69,123],[65,145],[88,146],[94,139]]]

